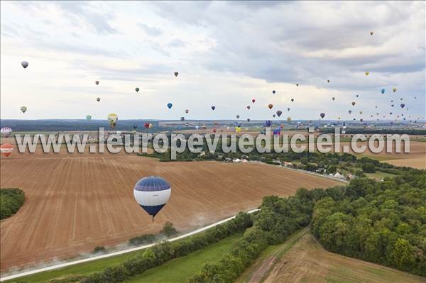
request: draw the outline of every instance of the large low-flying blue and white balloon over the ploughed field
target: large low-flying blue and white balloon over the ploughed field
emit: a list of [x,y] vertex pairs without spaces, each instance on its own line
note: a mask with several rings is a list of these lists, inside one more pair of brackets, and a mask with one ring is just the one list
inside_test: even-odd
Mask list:
[[142,178],[133,188],[136,202],[153,218],[168,202],[171,192],[170,184],[158,176]]

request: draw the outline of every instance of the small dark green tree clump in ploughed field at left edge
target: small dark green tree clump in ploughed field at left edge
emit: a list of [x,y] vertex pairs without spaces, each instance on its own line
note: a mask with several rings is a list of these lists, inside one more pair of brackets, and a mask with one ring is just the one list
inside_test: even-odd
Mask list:
[[0,189],[0,219],[15,214],[25,201],[21,189]]

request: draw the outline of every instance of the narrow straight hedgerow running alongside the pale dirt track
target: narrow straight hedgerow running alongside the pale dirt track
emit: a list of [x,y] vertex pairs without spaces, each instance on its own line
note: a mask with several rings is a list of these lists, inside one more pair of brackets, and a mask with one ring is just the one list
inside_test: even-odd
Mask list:
[[219,226],[209,229],[204,233],[181,240],[178,242],[164,241],[153,248],[144,250],[141,255],[137,255],[129,260],[126,260],[121,265],[108,267],[104,272],[90,274],[82,280],[82,283],[115,283],[122,282],[125,279],[140,274],[149,268],[163,264],[175,257],[188,255],[195,250],[217,243],[229,235],[244,231],[253,225],[251,216],[247,213],[239,213],[236,218],[223,223]]

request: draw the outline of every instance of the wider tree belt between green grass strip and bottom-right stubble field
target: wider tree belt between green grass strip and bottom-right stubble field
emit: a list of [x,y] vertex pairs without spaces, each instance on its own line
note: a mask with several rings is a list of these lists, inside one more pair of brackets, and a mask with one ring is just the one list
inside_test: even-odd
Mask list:
[[288,235],[310,223],[313,200],[308,194],[306,189],[300,189],[296,196],[285,199],[263,198],[261,211],[253,217],[253,227],[222,260],[205,264],[189,282],[233,282],[268,245],[283,243]]

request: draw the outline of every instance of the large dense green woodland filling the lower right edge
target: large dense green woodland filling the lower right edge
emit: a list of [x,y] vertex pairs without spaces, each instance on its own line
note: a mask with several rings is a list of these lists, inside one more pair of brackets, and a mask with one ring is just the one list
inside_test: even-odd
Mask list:
[[426,276],[426,172],[355,179],[317,201],[312,233],[334,253]]

